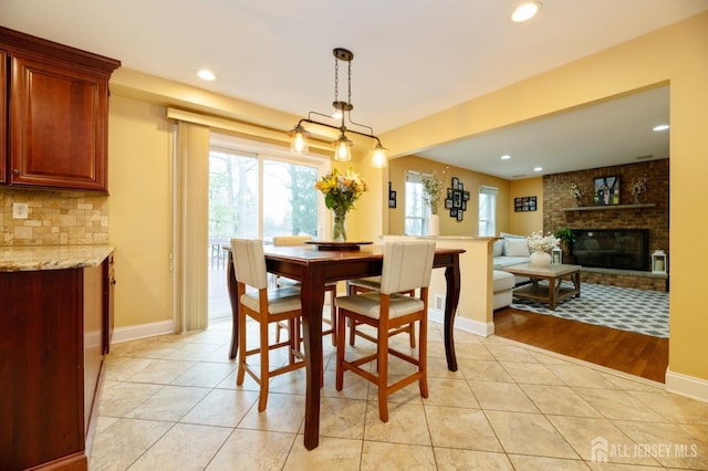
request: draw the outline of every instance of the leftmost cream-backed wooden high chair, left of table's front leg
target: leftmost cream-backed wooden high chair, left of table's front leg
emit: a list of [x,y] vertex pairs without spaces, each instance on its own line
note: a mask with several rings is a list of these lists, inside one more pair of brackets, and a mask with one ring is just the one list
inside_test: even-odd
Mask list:
[[[292,371],[305,366],[303,355],[295,343],[298,320],[302,316],[300,291],[293,287],[268,287],[268,272],[266,270],[266,254],[263,242],[259,239],[231,239],[233,268],[236,270],[238,326],[239,326],[239,358],[236,384],[243,384],[248,373],[260,386],[258,411],[266,410],[268,405],[268,383],[270,378]],[[253,290],[247,291],[247,286]],[[259,346],[247,348],[246,317],[253,318],[259,324]],[[270,344],[268,339],[269,324],[287,322],[290,336],[288,342]],[[288,364],[270,369],[270,350],[288,347]],[[258,355],[260,366],[250,366],[249,356]]]

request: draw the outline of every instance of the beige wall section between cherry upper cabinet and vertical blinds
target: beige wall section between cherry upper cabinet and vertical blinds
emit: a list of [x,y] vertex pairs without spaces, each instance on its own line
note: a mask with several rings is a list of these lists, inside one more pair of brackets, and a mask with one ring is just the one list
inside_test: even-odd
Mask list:
[[111,96],[110,242],[115,247],[115,326],[169,322],[171,133],[162,106]]

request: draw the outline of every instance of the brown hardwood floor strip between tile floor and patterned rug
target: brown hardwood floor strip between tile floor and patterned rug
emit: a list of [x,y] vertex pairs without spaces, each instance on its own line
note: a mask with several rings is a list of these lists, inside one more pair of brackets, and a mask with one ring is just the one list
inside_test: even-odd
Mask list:
[[494,334],[659,383],[668,366],[668,338],[511,307],[494,312]]

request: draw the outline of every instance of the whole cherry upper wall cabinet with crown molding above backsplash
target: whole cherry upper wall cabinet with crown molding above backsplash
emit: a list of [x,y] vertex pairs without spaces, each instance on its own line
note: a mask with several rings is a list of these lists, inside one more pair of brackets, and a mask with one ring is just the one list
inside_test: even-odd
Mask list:
[[108,80],[121,63],[1,27],[0,55],[0,181],[107,191]]

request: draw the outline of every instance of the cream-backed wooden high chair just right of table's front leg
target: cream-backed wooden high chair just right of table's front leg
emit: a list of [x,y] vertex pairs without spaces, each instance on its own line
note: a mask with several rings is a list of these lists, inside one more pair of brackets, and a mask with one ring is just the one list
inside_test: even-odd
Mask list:
[[[435,257],[433,240],[384,241],[384,259],[381,290],[363,294],[341,296],[337,300],[336,389],[344,387],[344,371],[353,371],[378,387],[378,416],[388,421],[388,396],[418,381],[420,396],[428,397],[427,344],[428,344],[428,285]],[[418,290],[417,296],[400,294]],[[376,352],[346,360],[344,343],[346,321],[366,324],[376,329]],[[417,356],[395,349],[388,342],[388,331],[406,324],[418,323]],[[388,355],[410,363],[415,373],[388,384]],[[377,373],[365,368],[376,362]]]

